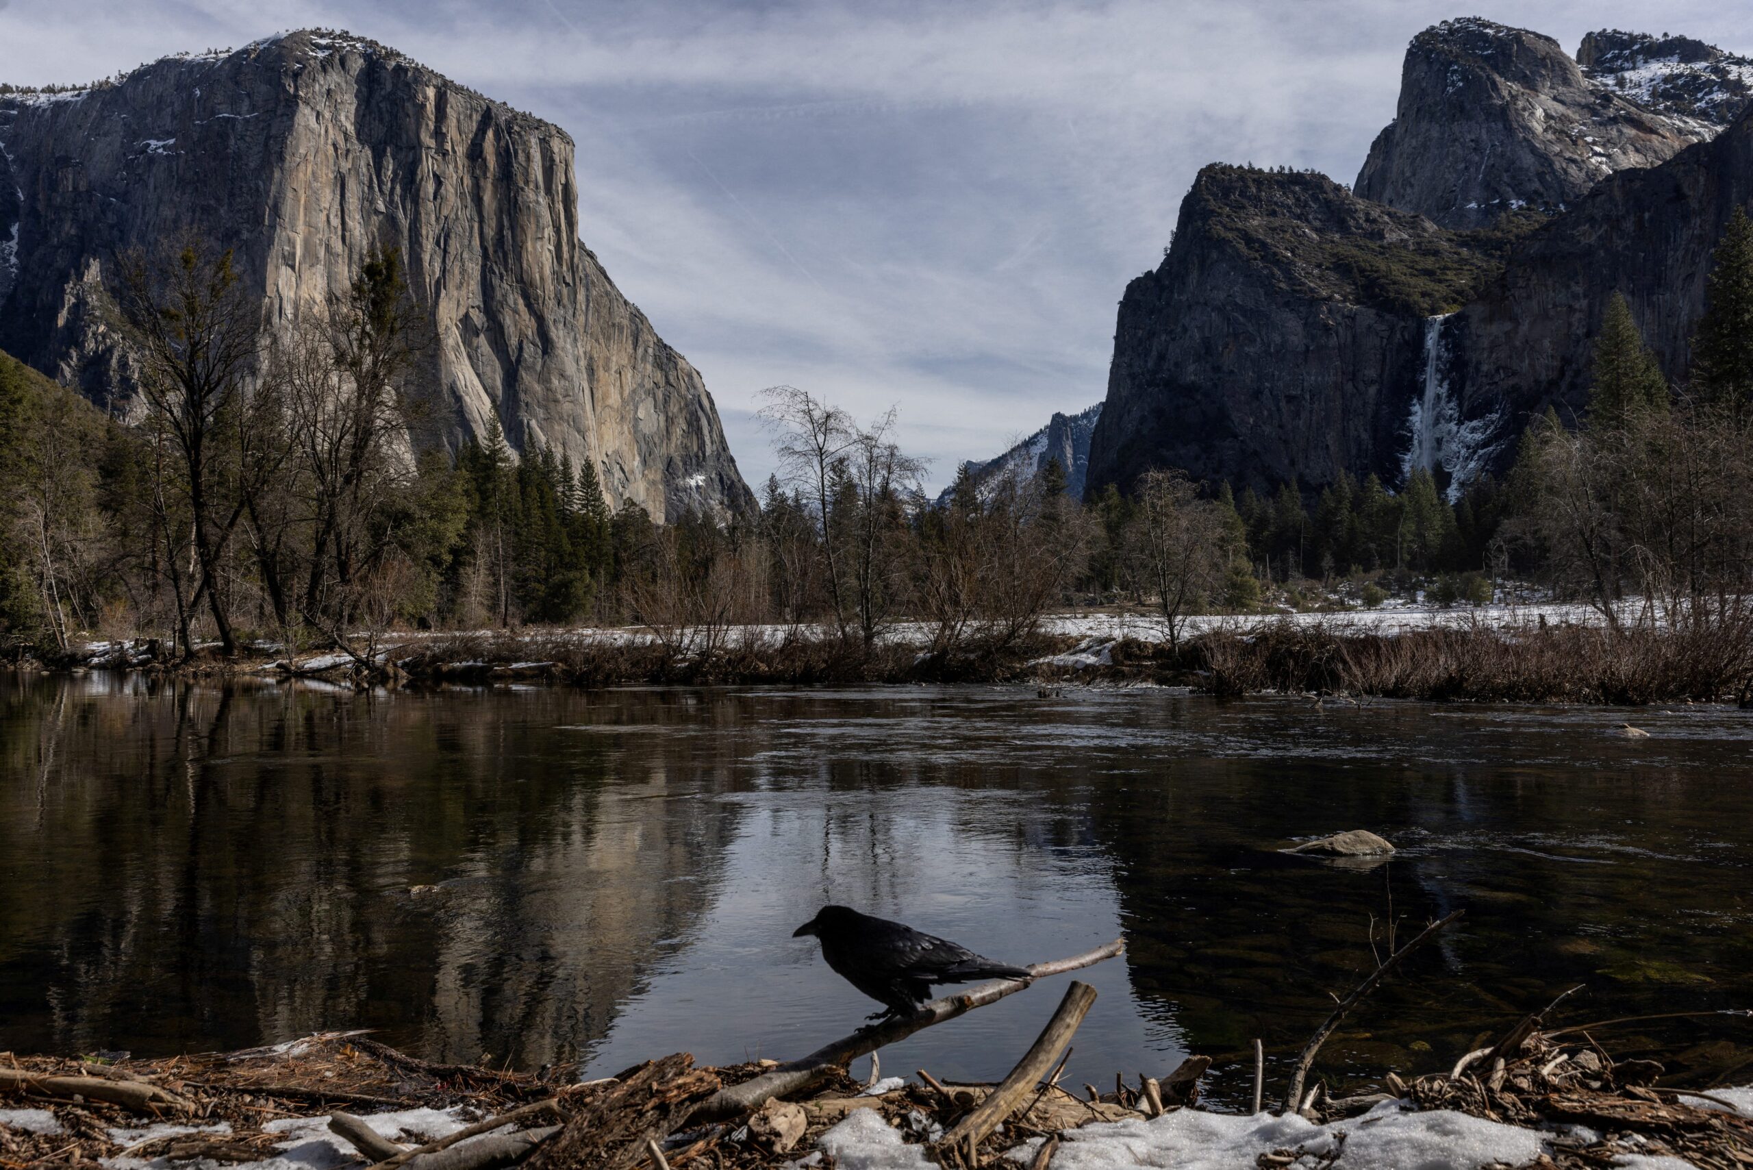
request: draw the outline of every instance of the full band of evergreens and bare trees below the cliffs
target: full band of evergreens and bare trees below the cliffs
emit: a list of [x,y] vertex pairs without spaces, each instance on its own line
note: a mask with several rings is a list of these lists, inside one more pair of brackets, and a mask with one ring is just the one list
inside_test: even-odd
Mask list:
[[[116,265],[138,410],[105,417],[0,356],[0,635],[167,656],[359,649],[389,628],[640,623],[677,653],[738,631],[871,647],[901,621],[940,656],[996,654],[1068,603],[1253,612],[1388,591],[1485,602],[1534,581],[1625,621],[1725,621],[1753,568],[1753,223],[1714,253],[1688,379],[1669,384],[1623,296],[1581,417],[1522,435],[1502,479],[1422,468],[1271,495],[1162,468],[1066,495],[1064,468],[975,479],[945,505],[896,442],[817,395],[766,391],[778,472],[720,523],[610,507],[598,470],[498,419],[433,440],[426,316],[394,249],[268,337],[230,253],[184,240]],[[1627,609],[1639,598],[1639,612]],[[1739,619],[1739,617],[1737,617]]]

